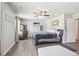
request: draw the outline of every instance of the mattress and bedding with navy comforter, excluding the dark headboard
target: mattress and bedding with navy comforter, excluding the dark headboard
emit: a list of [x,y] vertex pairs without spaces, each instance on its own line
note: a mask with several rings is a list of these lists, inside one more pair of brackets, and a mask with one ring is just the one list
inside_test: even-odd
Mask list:
[[59,41],[59,32],[58,31],[40,31],[35,32],[32,35],[35,44],[41,42],[58,42]]

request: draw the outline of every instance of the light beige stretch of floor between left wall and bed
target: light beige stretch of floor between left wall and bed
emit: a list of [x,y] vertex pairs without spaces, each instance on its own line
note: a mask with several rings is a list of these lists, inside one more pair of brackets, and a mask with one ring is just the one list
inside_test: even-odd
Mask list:
[[37,56],[37,50],[31,39],[21,40],[12,51],[10,56]]

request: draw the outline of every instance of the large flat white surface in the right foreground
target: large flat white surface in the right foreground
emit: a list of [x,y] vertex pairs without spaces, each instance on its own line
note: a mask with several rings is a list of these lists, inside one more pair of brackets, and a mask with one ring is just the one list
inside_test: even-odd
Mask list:
[[61,45],[38,48],[38,54],[39,56],[78,56]]

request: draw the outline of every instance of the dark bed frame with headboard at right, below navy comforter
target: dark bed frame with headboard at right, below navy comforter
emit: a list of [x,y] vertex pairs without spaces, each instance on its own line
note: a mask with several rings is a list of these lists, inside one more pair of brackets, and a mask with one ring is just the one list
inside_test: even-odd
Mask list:
[[57,29],[57,31],[59,31],[59,37],[54,36],[54,37],[50,37],[50,38],[40,38],[40,39],[34,39],[34,43],[35,45],[41,44],[41,43],[62,43],[62,36],[63,36],[63,29]]

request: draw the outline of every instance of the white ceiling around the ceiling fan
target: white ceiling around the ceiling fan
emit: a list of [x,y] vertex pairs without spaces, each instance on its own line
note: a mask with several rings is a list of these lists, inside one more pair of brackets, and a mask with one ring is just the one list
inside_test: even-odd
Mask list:
[[8,2],[8,4],[22,18],[33,18],[33,12],[40,10],[47,10],[51,17],[63,13],[79,13],[79,2]]

